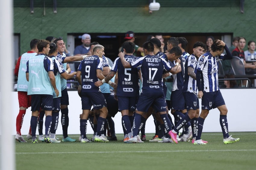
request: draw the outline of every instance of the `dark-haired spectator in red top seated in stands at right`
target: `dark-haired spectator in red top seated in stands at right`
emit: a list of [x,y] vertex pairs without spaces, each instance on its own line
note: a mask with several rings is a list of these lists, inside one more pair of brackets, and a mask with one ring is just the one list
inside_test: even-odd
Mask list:
[[256,65],[254,63],[245,62],[245,52],[243,51],[243,48],[245,47],[245,42],[246,40],[244,37],[239,38],[238,46],[232,51],[232,56],[237,56],[243,59],[246,74],[256,74]]

